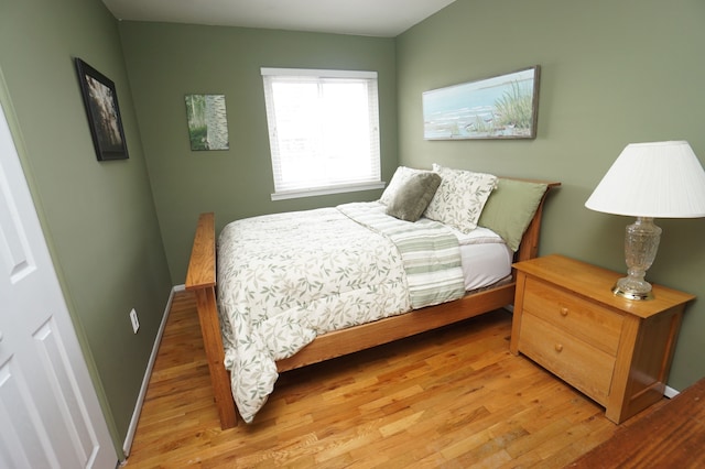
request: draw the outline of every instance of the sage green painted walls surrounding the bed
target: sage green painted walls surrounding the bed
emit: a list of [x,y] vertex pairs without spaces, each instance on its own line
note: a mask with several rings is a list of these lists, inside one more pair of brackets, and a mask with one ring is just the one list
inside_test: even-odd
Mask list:
[[[557,179],[541,253],[622,271],[630,220],[584,201],[623,146],[685,139],[705,159],[705,3],[457,0],[391,39],[118,22],[98,0],[0,6],[0,94],[113,438],[121,446],[196,217],[225,221],[379,192],[271,201],[261,66],[379,73],[382,176],[398,162]],[[130,159],[95,159],[73,56],[110,77]],[[533,141],[427,142],[421,94],[542,67]],[[184,95],[224,94],[230,150],[189,150]],[[159,222],[158,222],[159,221]],[[705,220],[664,229],[648,277],[705,297]],[[670,385],[705,375],[705,303],[687,310]],[[128,312],[141,321],[132,334]]]

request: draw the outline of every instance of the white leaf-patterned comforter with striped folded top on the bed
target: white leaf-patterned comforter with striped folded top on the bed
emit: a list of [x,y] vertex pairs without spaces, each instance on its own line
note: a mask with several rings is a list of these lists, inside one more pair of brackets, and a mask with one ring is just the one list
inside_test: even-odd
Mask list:
[[272,392],[275,360],[316,336],[463,295],[457,239],[441,223],[399,221],[383,210],[377,203],[346,204],[224,228],[218,309],[245,422]]

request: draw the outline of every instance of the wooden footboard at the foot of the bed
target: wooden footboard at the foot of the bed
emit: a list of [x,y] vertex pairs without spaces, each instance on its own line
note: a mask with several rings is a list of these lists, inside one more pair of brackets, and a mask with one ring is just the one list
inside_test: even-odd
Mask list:
[[225,368],[225,351],[216,304],[216,239],[215,216],[202,214],[198,218],[194,246],[186,273],[186,290],[196,295],[198,321],[208,359],[210,383],[215,394],[223,429],[237,425],[235,401],[230,390],[230,373]]

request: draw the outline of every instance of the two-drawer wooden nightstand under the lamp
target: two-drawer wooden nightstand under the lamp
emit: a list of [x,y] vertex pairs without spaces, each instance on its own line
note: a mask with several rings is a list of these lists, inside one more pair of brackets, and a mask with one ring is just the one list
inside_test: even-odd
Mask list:
[[562,255],[518,262],[510,350],[529,357],[621,423],[663,397],[686,303],[653,285],[653,299],[611,293],[623,274]]

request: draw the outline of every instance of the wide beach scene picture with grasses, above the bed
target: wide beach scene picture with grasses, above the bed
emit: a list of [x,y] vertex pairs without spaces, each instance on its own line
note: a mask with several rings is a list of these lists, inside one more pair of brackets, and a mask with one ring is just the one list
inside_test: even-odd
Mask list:
[[425,140],[535,139],[539,65],[423,94]]

